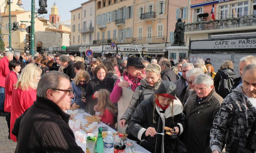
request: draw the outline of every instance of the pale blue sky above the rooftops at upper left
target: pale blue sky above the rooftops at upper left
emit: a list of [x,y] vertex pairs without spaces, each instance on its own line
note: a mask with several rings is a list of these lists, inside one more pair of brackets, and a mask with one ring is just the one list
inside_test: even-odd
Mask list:
[[[31,11],[31,0],[21,0],[22,7],[24,7],[25,11]],[[44,14],[41,16],[45,16],[46,19],[49,19],[49,14],[51,13],[51,7],[53,6],[53,2],[56,2],[56,6],[59,9],[60,21],[67,21],[71,19],[71,13],[69,11],[80,7],[83,2],[88,0],[47,0],[47,10],[48,14]],[[39,0],[35,0],[35,7],[38,7]]]

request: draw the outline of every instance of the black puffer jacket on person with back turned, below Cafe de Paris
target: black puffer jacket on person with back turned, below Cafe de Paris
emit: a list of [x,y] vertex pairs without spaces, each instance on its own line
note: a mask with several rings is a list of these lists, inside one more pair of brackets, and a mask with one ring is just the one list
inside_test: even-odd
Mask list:
[[236,73],[232,69],[224,68],[218,70],[214,77],[214,87],[217,94],[225,98],[231,92],[235,78]]

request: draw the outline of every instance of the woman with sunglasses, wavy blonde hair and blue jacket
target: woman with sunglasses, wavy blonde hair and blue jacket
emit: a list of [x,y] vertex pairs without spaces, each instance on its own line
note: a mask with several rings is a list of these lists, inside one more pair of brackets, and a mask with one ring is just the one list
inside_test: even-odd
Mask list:
[[88,111],[88,103],[86,103],[86,87],[90,80],[90,76],[87,71],[80,70],[74,80],[71,82],[74,99],[72,101],[72,107],[80,105],[82,109]]

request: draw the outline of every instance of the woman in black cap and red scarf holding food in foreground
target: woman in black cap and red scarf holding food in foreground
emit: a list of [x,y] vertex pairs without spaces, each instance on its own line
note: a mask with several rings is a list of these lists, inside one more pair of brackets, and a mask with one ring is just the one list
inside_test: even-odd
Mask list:
[[131,134],[141,141],[140,146],[151,153],[176,153],[184,149],[176,148],[180,146],[177,135],[183,133],[178,122],[184,114],[175,89],[174,83],[162,81],[154,94],[138,105],[128,122]]

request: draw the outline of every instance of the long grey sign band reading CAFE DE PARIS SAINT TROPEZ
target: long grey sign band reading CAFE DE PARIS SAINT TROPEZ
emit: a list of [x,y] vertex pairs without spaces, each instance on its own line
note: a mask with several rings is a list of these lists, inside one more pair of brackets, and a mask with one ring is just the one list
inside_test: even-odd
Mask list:
[[195,49],[252,49],[256,48],[256,38],[250,39],[223,39],[192,41],[191,50]]

